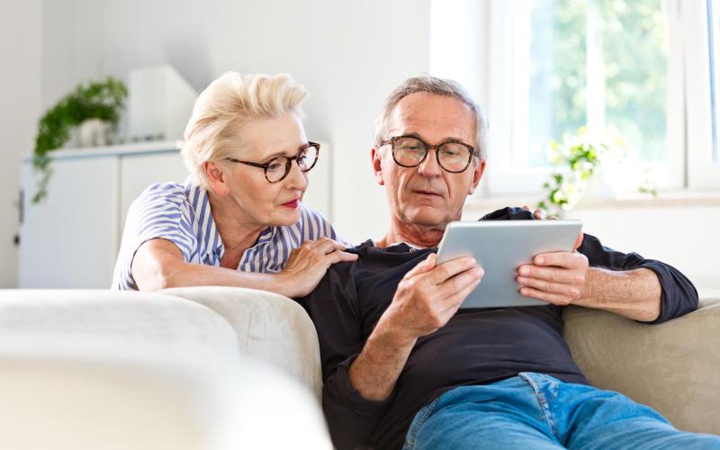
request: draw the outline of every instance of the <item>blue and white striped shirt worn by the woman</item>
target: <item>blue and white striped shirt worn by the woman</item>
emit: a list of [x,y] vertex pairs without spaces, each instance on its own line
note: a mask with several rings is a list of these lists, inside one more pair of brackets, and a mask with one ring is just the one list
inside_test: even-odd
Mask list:
[[[293,248],[322,237],[343,241],[320,212],[301,203],[300,220],[293,225],[264,229],[256,244],[240,257],[238,270],[280,272]],[[220,266],[224,247],[212,220],[208,192],[190,178],[183,184],[153,184],[132,202],[112,275],[112,289],[137,289],[130,274],[132,258],[140,245],[155,238],[174,243],[185,262]]]

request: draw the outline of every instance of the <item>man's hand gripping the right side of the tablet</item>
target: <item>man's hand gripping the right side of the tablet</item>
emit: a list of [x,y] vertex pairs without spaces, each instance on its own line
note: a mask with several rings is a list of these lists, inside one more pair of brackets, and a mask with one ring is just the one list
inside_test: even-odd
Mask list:
[[561,306],[579,301],[585,293],[588,275],[588,258],[577,253],[582,238],[581,233],[573,253],[543,253],[533,258],[533,264],[519,266],[516,280],[521,286],[520,293]]

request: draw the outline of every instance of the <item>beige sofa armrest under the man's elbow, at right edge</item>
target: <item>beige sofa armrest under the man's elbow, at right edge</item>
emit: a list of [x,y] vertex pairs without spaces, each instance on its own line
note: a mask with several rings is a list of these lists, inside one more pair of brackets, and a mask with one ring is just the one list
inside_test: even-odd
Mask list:
[[676,427],[720,434],[720,298],[661,325],[569,307],[565,339],[590,383],[658,410]]

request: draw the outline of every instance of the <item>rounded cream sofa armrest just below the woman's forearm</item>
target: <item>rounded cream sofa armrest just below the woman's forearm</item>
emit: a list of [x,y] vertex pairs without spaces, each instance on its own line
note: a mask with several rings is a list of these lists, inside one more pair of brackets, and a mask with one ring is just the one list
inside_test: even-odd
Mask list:
[[237,287],[173,288],[162,293],[201,303],[215,311],[238,333],[240,354],[278,367],[308,386],[320,399],[318,334],[299,304],[276,293]]

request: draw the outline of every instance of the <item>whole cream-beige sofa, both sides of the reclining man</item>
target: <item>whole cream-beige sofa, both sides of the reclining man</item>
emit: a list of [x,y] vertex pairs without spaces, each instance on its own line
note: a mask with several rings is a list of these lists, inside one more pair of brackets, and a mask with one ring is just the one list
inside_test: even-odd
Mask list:
[[[720,293],[649,326],[570,307],[590,382],[720,434]],[[331,448],[318,338],[275,293],[0,290],[0,447]]]

